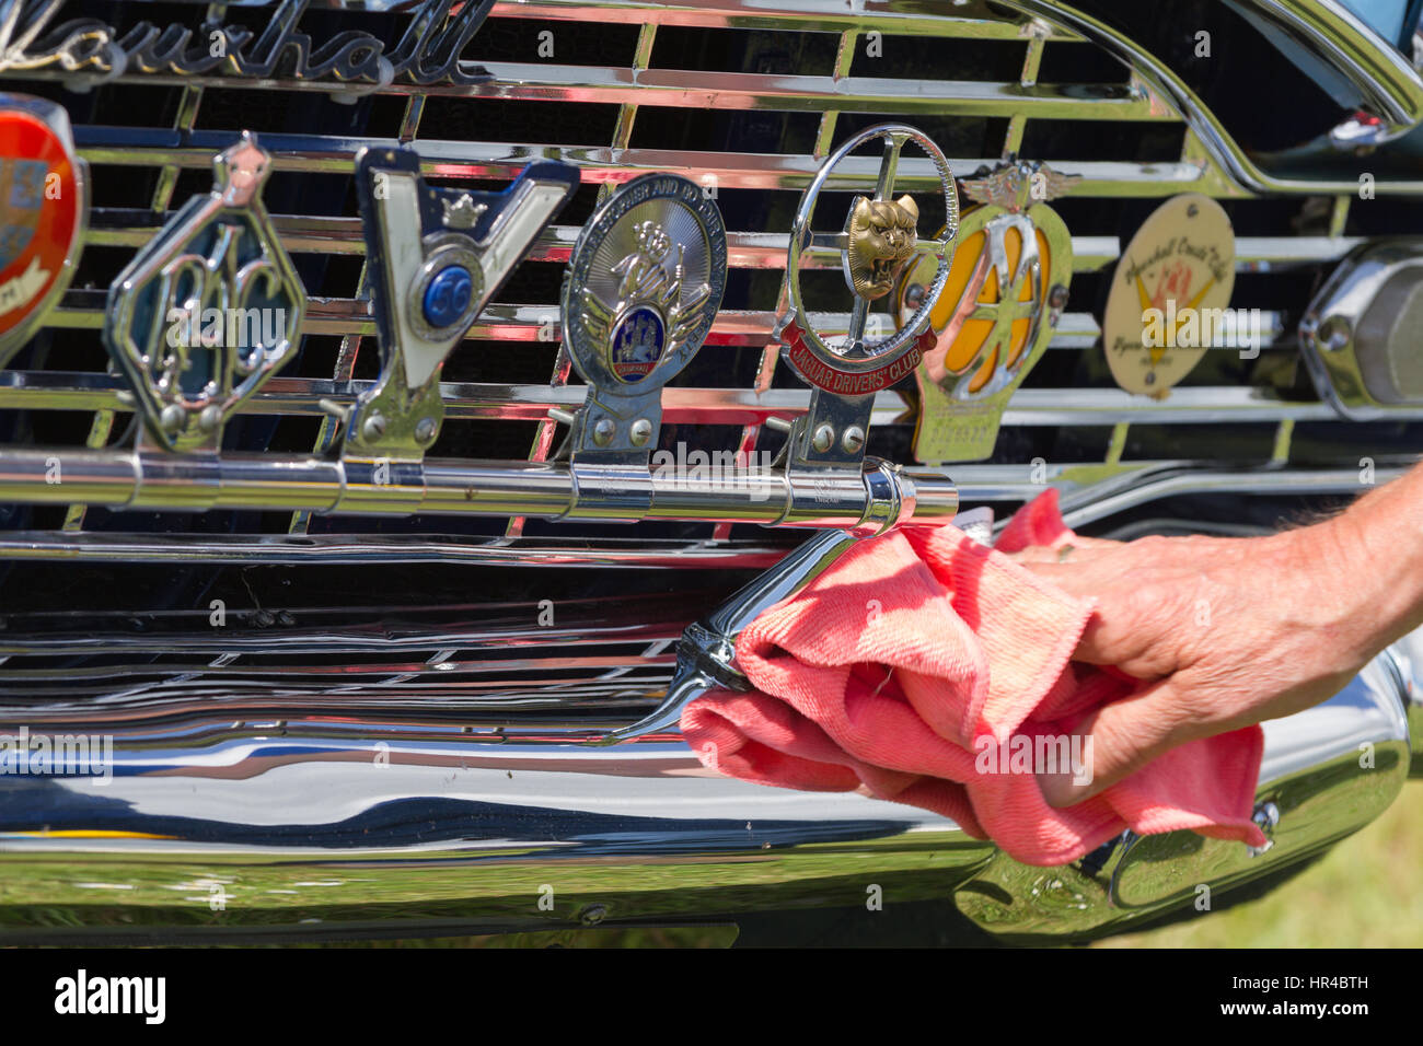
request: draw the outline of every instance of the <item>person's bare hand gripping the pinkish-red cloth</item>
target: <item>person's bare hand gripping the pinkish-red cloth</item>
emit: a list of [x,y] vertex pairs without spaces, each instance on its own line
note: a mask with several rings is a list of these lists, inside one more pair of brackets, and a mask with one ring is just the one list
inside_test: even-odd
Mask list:
[[1076,660],[1148,682],[1084,720],[1090,784],[1042,776],[1066,807],[1168,749],[1288,716],[1338,693],[1379,648],[1338,519],[1259,538],[1074,539],[1015,558],[1094,599]]

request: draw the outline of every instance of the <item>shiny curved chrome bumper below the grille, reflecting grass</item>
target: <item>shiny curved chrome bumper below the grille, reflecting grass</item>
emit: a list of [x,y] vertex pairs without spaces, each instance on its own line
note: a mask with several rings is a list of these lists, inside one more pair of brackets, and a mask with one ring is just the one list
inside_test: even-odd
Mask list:
[[[0,776],[0,942],[494,932],[951,898],[1007,939],[1086,939],[1321,852],[1409,773],[1403,660],[1265,724],[1272,845],[1173,833],[1032,868],[925,811],[743,784],[676,734],[359,719],[132,724],[112,776]],[[11,714],[0,731],[21,723]]]

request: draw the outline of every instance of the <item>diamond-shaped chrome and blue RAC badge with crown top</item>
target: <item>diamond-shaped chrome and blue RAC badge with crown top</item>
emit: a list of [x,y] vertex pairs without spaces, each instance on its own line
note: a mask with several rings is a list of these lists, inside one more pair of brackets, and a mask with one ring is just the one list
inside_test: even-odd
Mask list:
[[262,205],[272,158],[250,132],[108,289],[104,344],[148,440],[216,453],[226,418],[295,354],[306,290]]

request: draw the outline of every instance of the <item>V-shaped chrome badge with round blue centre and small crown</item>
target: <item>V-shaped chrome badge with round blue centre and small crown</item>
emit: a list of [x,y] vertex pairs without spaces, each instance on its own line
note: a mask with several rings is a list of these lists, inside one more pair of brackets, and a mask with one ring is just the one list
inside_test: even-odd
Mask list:
[[346,416],[344,458],[424,458],[444,423],[445,359],[578,181],[544,159],[501,192],[470,192],[425,184],[413,149],[356,157],[381,373]]

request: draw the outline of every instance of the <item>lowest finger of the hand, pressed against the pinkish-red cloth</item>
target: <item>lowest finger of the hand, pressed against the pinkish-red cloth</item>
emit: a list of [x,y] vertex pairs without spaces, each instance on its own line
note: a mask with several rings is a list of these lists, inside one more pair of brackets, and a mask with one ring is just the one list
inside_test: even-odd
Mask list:
[[1170,679],[1111,704],[1080,726],[1081,767],[1039,774],[1037,784],[1050,807],[1070,807],[1101,794],[1178,744],[1194,740],[1192,723]]

